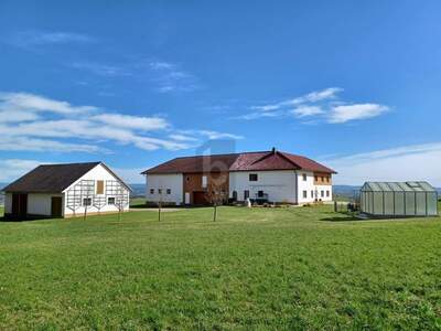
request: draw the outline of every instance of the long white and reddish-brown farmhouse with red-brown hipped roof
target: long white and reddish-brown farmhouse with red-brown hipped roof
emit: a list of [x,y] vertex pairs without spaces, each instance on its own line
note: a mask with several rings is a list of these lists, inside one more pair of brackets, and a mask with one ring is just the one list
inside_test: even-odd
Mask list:
[[148,202],[206,204],[216,188],[228,200],[306,204],[332,201],[334,170],[287,152],[176,158],[146,170]]

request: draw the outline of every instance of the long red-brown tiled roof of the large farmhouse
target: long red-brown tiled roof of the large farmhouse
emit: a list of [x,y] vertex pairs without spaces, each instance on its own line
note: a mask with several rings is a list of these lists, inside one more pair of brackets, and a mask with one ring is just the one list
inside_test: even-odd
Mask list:
[[279,151],[245,152],[206,157],[176,158],[143,174],[186,173],[209,171],[309,170],[335,173],[334,170],[311,159]]

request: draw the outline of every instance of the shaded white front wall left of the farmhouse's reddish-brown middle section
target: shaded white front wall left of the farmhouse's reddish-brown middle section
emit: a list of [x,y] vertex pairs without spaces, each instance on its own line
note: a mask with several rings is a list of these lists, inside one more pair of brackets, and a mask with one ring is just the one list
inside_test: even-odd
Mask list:
[[[163,202],[183,203],[183,177],[182,173],[170,174],[147,174],[146,175],[146,200],[148,202],[158,202],[162,199]],[[153,189],[154,193],[150,194]],[[158,193],[158,189],[162,189],[162,197]],[[166,194],[170,189],[171,193]]]

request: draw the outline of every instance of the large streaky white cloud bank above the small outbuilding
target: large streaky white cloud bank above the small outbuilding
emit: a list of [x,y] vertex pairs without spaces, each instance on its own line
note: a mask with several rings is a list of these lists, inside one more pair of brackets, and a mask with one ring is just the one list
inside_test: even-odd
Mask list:
[[[19,116],[13,117],[15,113]],[[57,116],[46,117],[45,113],[56,113]],[[193,136],[241,138],[209,130],[172,131],[171,124],[164,118],[104,113],[97,107],[73,106],[25,93],[0,93],[0,118],[2,116],[11,116],[14,121],[0,121],[1,150],[108,152],[108,149],[100,148],[104,142],[108,146],[111,146],[109,142],[131,145],[148,151],[180,150],[189,149],[198,141]],[[160,137],[164,135],[168,137]],[[66,141],[68,139],[80,143]]]

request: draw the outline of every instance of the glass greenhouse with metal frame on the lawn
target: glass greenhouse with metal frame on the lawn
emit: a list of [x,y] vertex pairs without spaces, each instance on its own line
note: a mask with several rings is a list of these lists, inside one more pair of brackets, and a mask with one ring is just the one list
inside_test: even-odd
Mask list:
[[366,182],[362,213],[373,216],[437,216],[438,192],[427,182]]

